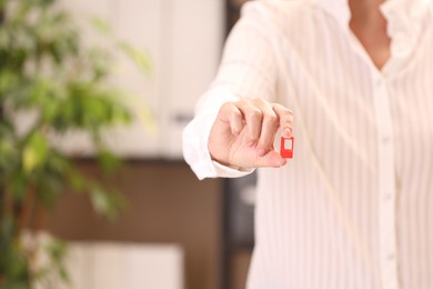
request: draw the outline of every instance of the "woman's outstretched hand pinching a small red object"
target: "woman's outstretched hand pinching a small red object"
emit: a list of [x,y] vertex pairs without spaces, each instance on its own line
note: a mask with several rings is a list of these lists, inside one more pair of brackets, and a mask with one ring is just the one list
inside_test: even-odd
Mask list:
[[293,112],[263,99],[224,103],[212,126],[208,148],[213,160],[232,168],[281,167],[273,147],[276,131],[292,137]]

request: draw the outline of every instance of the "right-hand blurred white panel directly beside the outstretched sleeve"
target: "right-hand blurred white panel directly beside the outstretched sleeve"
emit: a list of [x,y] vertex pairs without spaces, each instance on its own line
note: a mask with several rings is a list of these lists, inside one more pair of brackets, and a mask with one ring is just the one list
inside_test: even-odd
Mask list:
[[223,38],[222,0],[172,0],[168,54],[165,156],[181,155],[181,132],[216,72]]

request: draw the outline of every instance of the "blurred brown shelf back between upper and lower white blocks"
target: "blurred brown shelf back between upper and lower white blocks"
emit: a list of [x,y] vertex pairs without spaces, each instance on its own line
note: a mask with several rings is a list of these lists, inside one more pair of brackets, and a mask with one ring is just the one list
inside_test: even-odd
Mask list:
[[[101,178],[93,160],[79,165],[88,176]],[[128,199],[118,220],[97,216],[84,196],[70,193],[48,216],[47,226],[73,242],[175,243],[183,255],[184,288],[221,289],[222,181],[198,181],[183,162],[131,160],[107,180]]]

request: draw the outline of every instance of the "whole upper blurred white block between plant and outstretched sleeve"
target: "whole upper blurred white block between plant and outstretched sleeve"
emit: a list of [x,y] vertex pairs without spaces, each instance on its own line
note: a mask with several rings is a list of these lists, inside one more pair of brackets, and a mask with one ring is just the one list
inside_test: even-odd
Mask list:
[[[130,158],[180,159],[181,132],[216,72],[224,1],[62,0],[62,4],[78,18],[105,19],[120,39],[148,51],[152,61],[150,76],[122,56],[113,68],[112,81],[133,96],[138,110],[148,103],[155,122],[153,133],[139,119],[130,128],[110,131],[113,149]],[[93,33],[87,34],[93,40]],[[82,136],[68,137],[62,147],[74,155],[91,153]]]

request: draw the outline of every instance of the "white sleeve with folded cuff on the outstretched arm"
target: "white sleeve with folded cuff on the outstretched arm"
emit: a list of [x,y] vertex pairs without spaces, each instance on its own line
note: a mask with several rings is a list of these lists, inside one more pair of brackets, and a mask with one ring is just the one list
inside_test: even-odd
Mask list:
[[221,106],[242,98],[271,101],[275,93],[276,64],[271,51],[269,16],[261,2],[242,9],[241,20],[230,33],[218,74],[195,106],[194,119],[182,134],[185,161],[199,179],[235,178],[253,169],[233,169],[212,161],[208,150],[211,127]]

